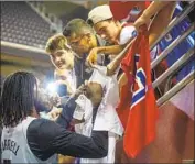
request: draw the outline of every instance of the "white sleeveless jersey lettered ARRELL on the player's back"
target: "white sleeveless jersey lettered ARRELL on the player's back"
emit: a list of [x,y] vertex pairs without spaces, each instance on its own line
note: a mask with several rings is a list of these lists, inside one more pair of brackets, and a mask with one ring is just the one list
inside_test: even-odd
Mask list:
[[56,155],[46,161],[39,160],[30,150],[26,139],[29,124],[35,118],[28,117],[14,128],[3,128],[1,136],[1,158],[3,163],[56,163]]

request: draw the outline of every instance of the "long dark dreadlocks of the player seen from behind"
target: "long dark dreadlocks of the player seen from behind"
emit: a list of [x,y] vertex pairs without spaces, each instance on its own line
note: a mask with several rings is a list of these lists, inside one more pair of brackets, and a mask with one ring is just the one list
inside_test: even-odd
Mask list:
[[1,94],[2,127],[14,127],[31,114],[35,94],[37,96],[37,84],[32,73],[17,72],[9,75],[3,83]]

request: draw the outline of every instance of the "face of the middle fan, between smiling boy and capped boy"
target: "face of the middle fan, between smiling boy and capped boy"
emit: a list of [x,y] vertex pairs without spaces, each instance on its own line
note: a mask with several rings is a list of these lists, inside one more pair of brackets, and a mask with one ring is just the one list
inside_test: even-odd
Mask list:
[[72,35],[67,40],[72,50],[78,55],[89,53],[93,47],[97,46],[96,37],[90,33],[78,36]]

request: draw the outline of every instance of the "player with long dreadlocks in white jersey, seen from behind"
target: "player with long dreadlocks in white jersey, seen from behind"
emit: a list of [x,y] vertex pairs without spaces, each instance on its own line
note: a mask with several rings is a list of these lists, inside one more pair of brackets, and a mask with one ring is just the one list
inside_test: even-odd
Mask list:
[[[107,155],[108,134],[93,131],[91,138],[69,132],[63,127],[68,119],[65,110],[75,109],[75,99],[85,89],[78,88],[64,106],[57,123],[40,119],[34,105],[36,78],[17,72],[4,80],[1,94],[2,163],[56,163],[55,154],[96,158]],[[69,117],[68,117],[69,118]]]

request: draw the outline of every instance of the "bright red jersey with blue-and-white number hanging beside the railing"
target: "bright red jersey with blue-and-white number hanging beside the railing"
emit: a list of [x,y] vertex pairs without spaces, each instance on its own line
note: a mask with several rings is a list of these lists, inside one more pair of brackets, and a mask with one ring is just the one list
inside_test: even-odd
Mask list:
[[127,155],[133,158],[154,140],[158,119],[158,107],[151,80],[147,25],[141,29],[142,31],[121,63],[132,91],[132,97],[128,101],[130,108],[123,136],[123,147]]

